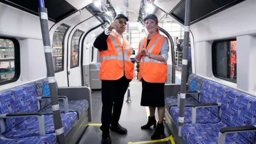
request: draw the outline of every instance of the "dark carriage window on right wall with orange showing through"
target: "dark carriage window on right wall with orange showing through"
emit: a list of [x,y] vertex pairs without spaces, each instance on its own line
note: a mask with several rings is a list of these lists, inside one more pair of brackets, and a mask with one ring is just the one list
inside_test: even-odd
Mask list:
[[215,77],[236,83],[236,39],[212,44],[212,70]]

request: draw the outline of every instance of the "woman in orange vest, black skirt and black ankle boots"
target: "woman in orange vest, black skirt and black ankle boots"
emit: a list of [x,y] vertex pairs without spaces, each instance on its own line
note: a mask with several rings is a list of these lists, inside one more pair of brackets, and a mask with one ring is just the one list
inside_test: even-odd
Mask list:
[[[148,35],[141,39],[139,53],[135,57],[140,61],[139,80],[142,81],[141,106],[148,106],[150,116],[148,123],[141,129],[149,129],[154,125],[156,130],[151,139],[161,139],[164,134],[164,84],[167,79],[167,59],[169,52],[168,39],[159,34],[156,15],[149,14],[144,19]],[[155,119],[155,110],[158,111],[158,123]],[[157,126],[156,126],[157,124]]]

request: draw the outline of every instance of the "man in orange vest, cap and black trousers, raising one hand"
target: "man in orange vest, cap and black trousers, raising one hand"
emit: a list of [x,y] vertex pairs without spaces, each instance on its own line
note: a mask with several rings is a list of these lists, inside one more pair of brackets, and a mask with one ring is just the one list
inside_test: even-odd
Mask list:
[[[95,39],[93,44],[99,50],[101,62],[102,143],[111,143],[109,129],[119,134],[127,133],[127,130],[118,123],[125,92],[134,77],[134,64],[130,60],[132,48],[122,36],[127,21],[128,18],[124,14],[118,14],[115,21]],[[115,31],[112,31],[113,29]]]

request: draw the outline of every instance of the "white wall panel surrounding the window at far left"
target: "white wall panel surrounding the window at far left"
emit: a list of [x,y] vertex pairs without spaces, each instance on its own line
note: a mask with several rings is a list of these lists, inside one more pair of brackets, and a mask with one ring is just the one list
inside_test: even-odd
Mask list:
[[[19,41],[21,67],[18,81],[1,85],[0,90],[46,77],[39,17],[0,3],[0,21],[0,35],[14,37]],[[53,24],[53,22],[49,21],[49,28]]]

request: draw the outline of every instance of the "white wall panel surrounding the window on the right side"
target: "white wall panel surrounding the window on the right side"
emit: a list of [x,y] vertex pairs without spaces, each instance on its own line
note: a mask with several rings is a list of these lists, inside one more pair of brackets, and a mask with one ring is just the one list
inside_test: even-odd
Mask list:
[[[255,80],[255,75],[252,75],[255,74],[253,68],[255,63],[251,62],[252,60],[255,61],[255,58],[250,56],[256,55],[253,45],[255,39],[250,36],[239,37],[256,34],[256,19],[253,19],[254,13],[256,13],[255,5],[256,1],[247,0],[191,25],[190,30],[195,38],[196,73],[212,81],[256,96],[256,81],[251,80]],[[234,37],[237,37],[239,44],[237,45],[237,84],[214,77],[211,59],[213,41]]]

